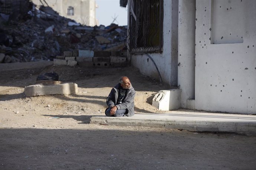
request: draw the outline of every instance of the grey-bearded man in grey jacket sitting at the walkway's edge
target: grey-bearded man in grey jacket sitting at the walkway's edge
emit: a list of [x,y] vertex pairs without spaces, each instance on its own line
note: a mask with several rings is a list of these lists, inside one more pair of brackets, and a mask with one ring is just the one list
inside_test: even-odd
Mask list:
[[119,83],[112,88],[106,103],[105,110],[107,116],[133,116],[134,115],[135,90],[127,76],[122,76]]

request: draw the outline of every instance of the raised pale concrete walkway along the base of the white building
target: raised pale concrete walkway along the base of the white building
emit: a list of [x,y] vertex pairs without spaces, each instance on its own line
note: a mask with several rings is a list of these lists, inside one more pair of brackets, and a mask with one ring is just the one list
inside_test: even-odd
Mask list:
[[256,115],[170,111],[135,113],[132,117],[93,116],[90,123],[119,126],[150,126],[195,132],[231,132],[256,136]]

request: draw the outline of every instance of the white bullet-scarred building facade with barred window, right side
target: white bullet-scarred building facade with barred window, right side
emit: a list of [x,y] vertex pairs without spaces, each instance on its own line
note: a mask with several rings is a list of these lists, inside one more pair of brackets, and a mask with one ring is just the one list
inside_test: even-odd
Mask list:
[[153,105],[255,114],[256,1],[147,3],[128,0],[128,52],[142,74],[172,87]]

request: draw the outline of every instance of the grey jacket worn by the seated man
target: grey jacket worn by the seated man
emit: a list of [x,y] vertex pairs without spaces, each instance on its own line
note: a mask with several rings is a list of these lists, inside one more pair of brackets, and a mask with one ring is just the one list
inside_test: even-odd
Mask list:
[[128,113],[125,113],[125,116],[133,116],[134,115],[134,96],[135,96],[135,90],[131,85],[131,88],[128,89],[127,94],[125,95],[124,101],[120,104],[117,104],[118,100],[118,89],[121,87],[121,84],[118,83],[115,85],[111,92],[109,93],[106,103],[109,108],[112,108],[113,106],[116,106],[117,109],[127,109]]

